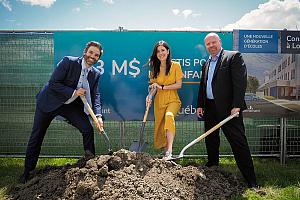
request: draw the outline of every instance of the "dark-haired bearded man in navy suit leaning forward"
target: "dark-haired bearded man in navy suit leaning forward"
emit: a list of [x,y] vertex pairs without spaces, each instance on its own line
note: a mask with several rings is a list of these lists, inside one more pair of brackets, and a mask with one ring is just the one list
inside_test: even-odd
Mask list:
[[37,94],[34,123],[29,138],[24,173],[20,182],[25,183],[30,171],[38,161],[47,128],[58,115],[67,119],[79,129],[83,137],[85,156],[95,155],[94,130],[79,98],[85,95],[98,118],[98,128],[103,127],[100,92],[98,90],[100,71],[93,67],[103,53],[98,42],[88,42],[83,57],[64,57],[55,68],[49,82]]

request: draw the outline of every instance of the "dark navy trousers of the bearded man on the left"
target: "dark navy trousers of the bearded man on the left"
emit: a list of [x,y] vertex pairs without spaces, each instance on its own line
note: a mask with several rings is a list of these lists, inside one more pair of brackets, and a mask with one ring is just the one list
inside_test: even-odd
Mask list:
[[35,169],[47,128],[57,115],[64,117],[79,129],[83,137],[84,150],[89,150],[95,154],[93,126],[84,112],[82,103],[78,100],[80,98],[49,113],[41,111],[36,106],[33,128],[26,150],[25,172]]

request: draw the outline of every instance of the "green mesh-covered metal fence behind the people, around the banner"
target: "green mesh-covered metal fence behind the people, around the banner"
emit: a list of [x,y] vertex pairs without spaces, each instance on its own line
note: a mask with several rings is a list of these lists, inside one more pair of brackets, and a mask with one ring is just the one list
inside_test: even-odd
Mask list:
[[[23,157],[31,133],[35,111],[35,94],[48,81],[54,66],[53,34],[0,33],[0,156]],[[143,114],[141,114],[141,119]],[[285,163],[286,158],[300,156],[300,117],[245,118],[246,135],[252,155],[273,156]],[[114,150],[128,149],[138,139],[141,121],[107,121],[105,128]],[[174,154],[194,138],[204,133],[204,123],[176,122]],[[145,127],[147,151],[152,148],[153,122]],[[229,144],[221,134],[222,155],[232,155]],[[96,135],[97,154],[107,152],[106,144]],[[82,137],[71,125],[53,121],[45,136],[42,156],[81,156]],[[204,156],[204,142],[191,147],[188,156]]]

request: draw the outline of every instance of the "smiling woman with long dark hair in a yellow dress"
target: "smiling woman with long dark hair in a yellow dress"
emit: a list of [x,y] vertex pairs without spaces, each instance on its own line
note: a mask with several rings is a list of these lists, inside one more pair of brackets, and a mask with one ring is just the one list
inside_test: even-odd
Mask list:
[[[172,158],[175,117],[181,106],[177,90],[181,88],[182,78],[180,64],[171,61],[169,45],[165,41],[157,42],[150,57],[150,87],[157,89],[154,98],[154,148],[164,148],[165,160]],[[150,99],[146,101],[151,103]]]

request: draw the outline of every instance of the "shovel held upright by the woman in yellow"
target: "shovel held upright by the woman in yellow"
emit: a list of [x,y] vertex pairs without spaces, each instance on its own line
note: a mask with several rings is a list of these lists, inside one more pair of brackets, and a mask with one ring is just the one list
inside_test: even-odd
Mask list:
[[[148,90],[150,90],[150,88],[148,88]],[[152,100],[152,97],[155,95],[155,93],[156,93],[156,88],[151,89],[149,91],[148,98]],[[144,141],[144,130],[145,130],[145,124],[146,124],[146,120],[147,120],[147,116],[148,116],[150,106],[151,106],[151,103],[147,102],[146,111],[145,111],[145,114],[144,114],[141,130],[140,130],[140,140],[139,141],[134,141],[131,144],[131,146],[129,148],[130,151],[143,152],[147,148],[148,144],[145,143],[145,141]]]

